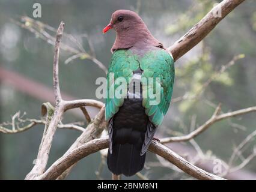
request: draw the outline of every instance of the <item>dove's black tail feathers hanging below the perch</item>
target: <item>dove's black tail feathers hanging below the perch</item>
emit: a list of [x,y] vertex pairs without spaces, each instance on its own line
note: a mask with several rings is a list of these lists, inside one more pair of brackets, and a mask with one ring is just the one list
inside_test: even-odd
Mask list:
[[141,155],[141,145],[116,144],[112,154],[108,151],[108,169],[115,175],[132,176],[143,169],[146,154]]

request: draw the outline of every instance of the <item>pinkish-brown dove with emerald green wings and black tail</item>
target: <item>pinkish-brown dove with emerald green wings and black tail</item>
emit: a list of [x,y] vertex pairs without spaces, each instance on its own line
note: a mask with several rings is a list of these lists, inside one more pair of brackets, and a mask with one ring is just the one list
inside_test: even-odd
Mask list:
[[[132,176],[144,168],[148,146],[169,109],[174,59],[134,11],[112,13],[103,34],[109,29],[115,30],[116,38],[111,48],[105,100],[107,164],[114,175]],[[117,79],[125,80],[124,91],[121,97],[111,97],[111,90],[118,91]],[[150,79],[153,83],[149,83]],[[158,101],[156,92],[160,95]]]

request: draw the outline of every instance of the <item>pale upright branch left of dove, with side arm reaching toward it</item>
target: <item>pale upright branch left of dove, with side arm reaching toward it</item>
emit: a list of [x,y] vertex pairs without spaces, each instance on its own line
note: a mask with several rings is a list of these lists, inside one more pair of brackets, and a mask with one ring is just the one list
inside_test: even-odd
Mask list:
[[[56,43],[55,43],[55,55],[53,59],[53,89],[55,94],[55,109],[54,113],[49,115],[47,118],[47,123],[44,128],[43,137],[38,150],[37,161],[35,166],[28,173],[25,179],[37,179],[37,176],[41,175],[46,169],[47,161],[49,158],[50,148],[52,146],[53,136],[55,134],[56,128],[62,119],[62,115],[66,110],[73,109],[76,107],[84,106],[104,106],[102,102],[95,100],[74,100],[74,101],[64,101],[61,98],[61,93],[59,89],[59,79],[58,79],[58,56],[60,41],[64,30],[64,23],[61,22],[59,28],[56,32]],[[103,107],[103,110],[105,108]],[[101,119],[103,121],[103,119]],[[49,124],[49,126],[48,126]],[[86,132],[86,131],[84,131]]]

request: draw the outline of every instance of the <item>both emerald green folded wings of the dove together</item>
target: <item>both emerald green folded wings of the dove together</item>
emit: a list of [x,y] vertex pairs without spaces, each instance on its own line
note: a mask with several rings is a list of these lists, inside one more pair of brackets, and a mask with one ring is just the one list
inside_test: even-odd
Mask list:
[[[123,105],[123,98],[111,98],[111,91],[116,90],[118,85],[111,81],[111,74],[114,74],[114,79],[124,77],[127,84],[129,77],[133,76],[133,71],[138,68],[143,70],[142,76],[142,105],[145,107],[145,113],[149,116],[150,121],[157,127],[163,121],[169,103],[171,102],[172,89],[174,83],[174,60],[166,50],[157,49],[150,50],[144,56],[138,56],[130,52],[130,50],[117,50],[112,55],[111,64],[108,70],[108,89],[106,91],[106,110],[105,118],[108,121],[118,112],[120,106]],[[159,80],[154,80],[154,86],[148,83],[149,77],[159,77]],[[148,93],[160,90],[160,103],[152,105]],[[115,94],[113,94],[115,96]]]

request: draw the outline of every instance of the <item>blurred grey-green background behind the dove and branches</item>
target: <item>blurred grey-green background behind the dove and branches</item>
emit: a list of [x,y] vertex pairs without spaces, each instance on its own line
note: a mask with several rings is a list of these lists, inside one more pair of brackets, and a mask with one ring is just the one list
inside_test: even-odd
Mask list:
[[[75,37],[88,34],[94,46],[97,59],[108,67],[110,49],[115,32],[102,34],[109,23],[112,12],[118,9],[137,11],[148,28],[165,47],[171,46],[195,23],[220,1],[209,0],[142,0],[142,1],[14,1],[0,0],[0,73],[1,109],[0,122],[11,121],[11,116],[20,110],[26,118],[40,119],[40,107],[47,101],[47,95],[38,95],[37,89],[47,86],[52,89],[53,46],[38,38],[13,20],[20,16],[32,17],[32,5],[40,2],[42,17],[36,18],[54,28],[59,22],[66,23],[65,32]],[[13,19],[13,20],[11,20]],[[54,35],[54,33],[52,33]],[[79,42],[88,49],[85,38]],[[65,40],[64,40],[65,41]],[[70,44],[70,46],[73,46]],[[210,118],[215,106],[222,103],[223,112],[238,110],[256,104],[256,1],[246,0],[229,14],[194,49],[175,63],[175,102],[160,126],[158,135],[169,136],[174,131],[189,133],[192,119],[201,125]],[[59,78],[61,91],[74,98],[96,98],[97,77],[105,77],[92,61],[78,58],[65,65],[70,52],[61,50]],[[236,58],[234,58],[236,56]],[[222,65],[234,60],[234,65],[219,73]],[[21,81],[19,78],[27,81]],[[212,82],[204,88],[207,80]],[[24,79],[23,79],[24,80]],[[37,82],[37,89],[29,90],[29,83]],[[33,93],[34,92],[34,93]],[[178,97],[183,100],[178,100]],[[50,97],[50,96],[49,96]],[[91,112],[93,113],[93,112]],[[67,113],[63,122],[84,121],[81,115]],[[206,154],[212,154],[228,161],[235,146],[255,130],[255,113],[239,116],[216,123],[195,141]],[[0,133],[0,179],[23,179],[31,170],[43,134],[43,125],[37,125],[19,134]],[[61,157],[79,136],[75,130],[56,131],[48,166]],[[182,143],[181,146],[190,145]],[[243,155],[252,153],[255,140],[246,146]],[[178,152],[178,151],[176,151]],[[158,162],[155,155],[148,153],[146,169],[142,171],[149,179],[186,179],[183,173],[152,166]],[[151,164],[150,164],[151,163]],[[240,159],[234,166],[241,163]],[[100,153],[81,160],[68,179],[97,179],[95,174],[100,164]],[[151,167],[151,168],[150,168]],[[255,176],[256,160],[251,160],[243,170]],[[107,167],[101,177],[111,179]],[[138,177],[133,176],[133,179]],[[256,178],[252,178],[256,179]]]

